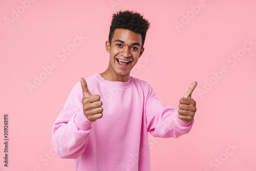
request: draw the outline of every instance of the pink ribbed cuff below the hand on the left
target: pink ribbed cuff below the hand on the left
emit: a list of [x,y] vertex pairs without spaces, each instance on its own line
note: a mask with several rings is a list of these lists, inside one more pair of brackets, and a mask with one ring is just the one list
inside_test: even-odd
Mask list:
[[81,109],[74,117],[74,123],[80,130],[88,131],[91,129],[93,122],[89,121],[86,116],[84,116],[83,110]]

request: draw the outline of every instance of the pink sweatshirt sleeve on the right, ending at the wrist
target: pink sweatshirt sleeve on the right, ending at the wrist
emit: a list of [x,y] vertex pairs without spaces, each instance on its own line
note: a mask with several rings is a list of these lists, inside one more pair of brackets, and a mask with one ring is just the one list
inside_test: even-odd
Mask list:
[[178,138],[187,134],[194,123],[185,123],[178,118],[178,110],[171,105],[163,105],[157,98],[153,88],[148,85],[144,112],[146,115],[147,131],[154,137]]

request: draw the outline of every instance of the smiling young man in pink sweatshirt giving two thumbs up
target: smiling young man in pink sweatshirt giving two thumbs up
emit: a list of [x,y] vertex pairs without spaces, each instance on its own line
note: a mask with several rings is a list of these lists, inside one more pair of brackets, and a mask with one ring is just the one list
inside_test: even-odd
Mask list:
[[108,69],[80,78],[56,119],[53,148],[59,157],[74,159],[74,170],[150,170],[147,132],[177,138],[190,131],[196,82],[177,111],[163,105],[147,82],[130,76],[144,52],[149,26],[139,13],[114,14],[105,42]]

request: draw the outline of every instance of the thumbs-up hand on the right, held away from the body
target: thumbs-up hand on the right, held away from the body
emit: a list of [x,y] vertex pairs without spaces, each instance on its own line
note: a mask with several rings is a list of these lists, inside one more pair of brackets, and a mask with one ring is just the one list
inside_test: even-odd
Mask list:
[[190,122],[195,116],[195,113],[197,111],[196,101],[193,98],[191,98],[191,94],[195,90],[196,86],[197,86],[197,82],[196,81],[192,82],[187,92],[180,99],[178,118],[185,123]]

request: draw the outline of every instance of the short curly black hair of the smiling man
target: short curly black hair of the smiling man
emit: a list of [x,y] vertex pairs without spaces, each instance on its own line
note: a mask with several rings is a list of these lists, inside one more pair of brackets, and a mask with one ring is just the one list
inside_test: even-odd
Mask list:
[[116,29],[128,29],[135,33],[141,34],[142,37],[142,46],[143,48],[144,41],[146,38],[146,32],[150,27],[150,23],[147,19],[143,18],[140,13],[134,11],[119,11],[112,16],[112,22],[110,26],[109,42],[114,36]]

